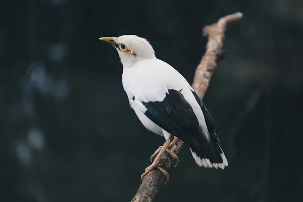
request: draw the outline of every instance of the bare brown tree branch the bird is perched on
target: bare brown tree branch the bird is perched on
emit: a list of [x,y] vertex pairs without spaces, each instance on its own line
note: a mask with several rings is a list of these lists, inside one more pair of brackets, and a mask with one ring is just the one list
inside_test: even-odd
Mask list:
[[[242,16],[243,14],[240,12],[228,15],[221,18],[217,23],[206,26],[203,29],[203,35],[208,36],[208,43],[206,46],[206,53],[196,68],[192,84],[192,88],[201,98],[204,97],[204,94],[209,86],[213,72],[217,67],[217,62],[219,62],[224,56],[225,52],[223,51],[222,47],[226,27],[230,22],[240,20]],[[173,153],[178,155],[182,144],[183,141],[180,140],[176,145],[174,145],[171,149]],[[168,170],[172,166],[172,163],[172,158],[165,153],[165,155],[163,155],[161,158],[160,167]],[[163,179],[164,175],[159,170],[153,170],[148,173],[143,179],[136,195],[133,197],[131,202],[152,201],[160,189]]]

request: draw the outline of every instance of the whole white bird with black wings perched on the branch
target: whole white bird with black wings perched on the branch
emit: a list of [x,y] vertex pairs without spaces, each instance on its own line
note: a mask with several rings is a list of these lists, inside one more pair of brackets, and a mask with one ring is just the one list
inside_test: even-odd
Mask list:
[[[141,179],[151,170],[159,169],[168,181],[168,172],[158,164],[167,151],[177,166],[178,157],[170,150],[177,138],[190,147],[198,166],[216,169],[228,166],[214,120],[203,101],[177,70],[156,58],[146,39],[136,35],[99,39],[117,49],[123,65],[123,88],[141,123],[166,139],[151,156],[151,160],[157,157],[145,169]],[[174,136],[177,138],[173,141]]]

